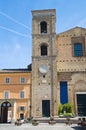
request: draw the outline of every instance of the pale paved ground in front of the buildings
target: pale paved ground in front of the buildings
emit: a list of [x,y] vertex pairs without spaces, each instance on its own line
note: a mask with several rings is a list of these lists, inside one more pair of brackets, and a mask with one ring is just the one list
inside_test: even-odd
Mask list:
[[40,123],[38,126],[32,126],[32,124],[22,124],[21,126],[15,126],[14,124],[0,124],[0,130],[86,130],[86,127],[78,127],[75,124],[70,126],[66,124],[49,125],[48,123]]

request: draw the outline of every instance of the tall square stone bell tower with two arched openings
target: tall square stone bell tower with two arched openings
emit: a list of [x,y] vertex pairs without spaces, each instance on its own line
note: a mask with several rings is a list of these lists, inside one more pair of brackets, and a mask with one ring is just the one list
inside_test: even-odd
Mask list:
[[56,10],[32,11],[32,116],[57,115]]

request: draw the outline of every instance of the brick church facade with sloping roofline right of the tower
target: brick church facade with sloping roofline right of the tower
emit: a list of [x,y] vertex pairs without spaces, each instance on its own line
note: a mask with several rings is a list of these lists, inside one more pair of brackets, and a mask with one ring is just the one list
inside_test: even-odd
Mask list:
[[[75,27],[56,37],[58,82],[67,81],[68,102],[78,115],[77,94],[86,94],[86,29]],[[74,43],[82,43],[83,56],[74,56]]]

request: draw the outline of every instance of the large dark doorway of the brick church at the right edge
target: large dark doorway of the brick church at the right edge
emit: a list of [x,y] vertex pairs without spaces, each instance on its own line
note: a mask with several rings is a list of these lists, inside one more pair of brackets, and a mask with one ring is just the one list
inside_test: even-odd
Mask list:
[[86,116],[86,94],[77,94],[78,115]]

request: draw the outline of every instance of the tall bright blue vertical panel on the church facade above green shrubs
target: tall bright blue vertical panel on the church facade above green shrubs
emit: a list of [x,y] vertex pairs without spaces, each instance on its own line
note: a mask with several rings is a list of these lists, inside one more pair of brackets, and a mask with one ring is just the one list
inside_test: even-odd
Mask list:
[[66,81],[60,82],[60,102],[61,104],[68,103],[68,87]]

